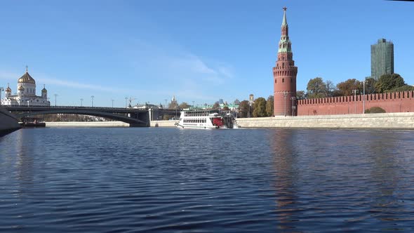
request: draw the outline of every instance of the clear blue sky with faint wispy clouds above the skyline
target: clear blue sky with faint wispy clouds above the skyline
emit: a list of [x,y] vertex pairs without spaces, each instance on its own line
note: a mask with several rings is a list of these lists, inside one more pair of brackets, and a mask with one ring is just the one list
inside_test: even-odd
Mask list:
[[273,93],[287,6],[298,90],[370,76],[370,44],[394,42],[395,72],[414,84],[414,3],[382,0],[0,1],[0,86],[29,66],[58,105],[197,105]]

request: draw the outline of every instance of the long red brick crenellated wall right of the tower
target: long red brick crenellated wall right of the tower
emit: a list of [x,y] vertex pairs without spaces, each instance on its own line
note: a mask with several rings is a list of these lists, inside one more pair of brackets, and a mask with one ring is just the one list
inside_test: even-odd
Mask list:
[[[298,116],[356,114],[363,112],[363,95],[298,100]],[[381,107],[386,112],[414,112],[414,91],[365,95],[365,109]]]

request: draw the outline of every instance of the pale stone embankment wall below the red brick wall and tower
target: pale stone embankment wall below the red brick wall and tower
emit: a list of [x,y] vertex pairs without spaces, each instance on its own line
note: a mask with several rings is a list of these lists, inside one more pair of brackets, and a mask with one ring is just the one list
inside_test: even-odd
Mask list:
[[241,128],[404,128],[414,129],[414,112],[326,116],[239,118]]

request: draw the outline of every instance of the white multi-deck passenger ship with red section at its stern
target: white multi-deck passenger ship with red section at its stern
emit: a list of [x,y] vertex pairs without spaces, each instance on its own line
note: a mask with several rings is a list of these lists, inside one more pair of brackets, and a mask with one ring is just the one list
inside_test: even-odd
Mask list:
[[181,112],[178,128],[236,128],[236,121],[229,112]]

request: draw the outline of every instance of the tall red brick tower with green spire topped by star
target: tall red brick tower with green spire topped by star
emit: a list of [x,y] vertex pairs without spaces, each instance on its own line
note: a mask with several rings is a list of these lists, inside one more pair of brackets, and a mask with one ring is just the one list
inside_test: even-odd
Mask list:
[[291,98],[296,98],[296,74],[298,74],[298,67],[295,67],[295,61],[293,61],[286,9],[286,7],[283,8],[279,51],[277,52],[276,66],[273,67],[275,116],[292,116],[293,109],[293,115],[298,114],[298,111],[295,111],[296,101]]

